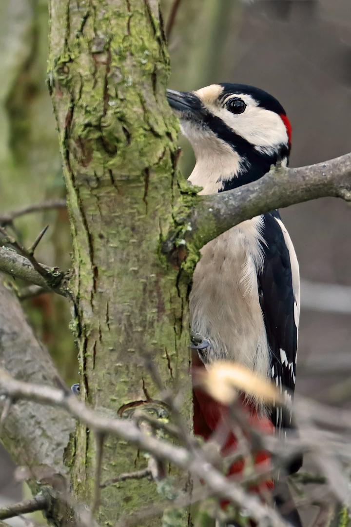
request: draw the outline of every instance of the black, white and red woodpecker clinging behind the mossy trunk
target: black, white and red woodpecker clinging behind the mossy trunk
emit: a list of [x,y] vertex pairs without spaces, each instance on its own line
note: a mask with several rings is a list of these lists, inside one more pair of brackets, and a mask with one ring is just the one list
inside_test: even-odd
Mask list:
[[[277,160],[287,165],[291,126],[282,105],[263,90],[213,84],[194,92],[168,90],[167,99],[195,152],[188,181],[203,187],[200,194],[255,181]],[[193,364],[237,362],[274,379],[289,397],[296,375],[299,269],[279,212],[240,223],[201,253],[189,302],[192,332],[201,337],[193,343]],[[194,389],[195,433],[207,439],[221,415]],[[289,427],[280,408],[269,417],[275,428]]]

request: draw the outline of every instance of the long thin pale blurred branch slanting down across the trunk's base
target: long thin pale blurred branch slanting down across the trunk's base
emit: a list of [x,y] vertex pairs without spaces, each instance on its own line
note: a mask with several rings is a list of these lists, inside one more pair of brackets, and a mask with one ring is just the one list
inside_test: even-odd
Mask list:
[[11,378],[0,368],[0,393],[13,399],[27,399],[42,404],[64,408],[72,416],[88,426],[95,433],[112,434],[122,437],[135,446],[152,454],[157,460],[169,461],[180,469],[195,474],[206,483],[210,491],[221,499],[229,500],[248,511],[250,518],[257,522],[269,522],[273,527],[287,527],[279,515],[260,503],[254,495],[248,495],[238,484],[229,482],[202,456],[200,450],[189,452],[186,448],[171,445],[165,441],[143,434],[133,421],[109,419],[86,407],[74,395],[49,386],[24,383]]

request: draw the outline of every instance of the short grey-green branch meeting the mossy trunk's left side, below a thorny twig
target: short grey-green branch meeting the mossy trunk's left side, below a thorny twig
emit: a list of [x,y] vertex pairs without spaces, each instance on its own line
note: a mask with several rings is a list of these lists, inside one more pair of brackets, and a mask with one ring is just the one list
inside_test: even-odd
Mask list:
[[[25,280],[35,286],[42,287],[47,292],[55,292],[58,295],[72,298],[72,293],[68,287],[67,274],[64,275],[62,271],[58,271],[60,275],[57,276],[56,268],[51,269],[43,264],[41,266],[47,271],[48,276],[52,276],[52,286],[49,286],[48,280],[34,269],[27,258],[19,255],[14,249],[0,247],[0,271],[14,278]],[[57,279],[57,284],[55,284],[55,279]]]

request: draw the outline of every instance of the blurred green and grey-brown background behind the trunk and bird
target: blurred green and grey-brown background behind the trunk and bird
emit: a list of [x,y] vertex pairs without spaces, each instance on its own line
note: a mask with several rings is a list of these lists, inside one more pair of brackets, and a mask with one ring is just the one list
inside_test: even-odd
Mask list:
[[[165,22],[178,4],[169,38],[170,87],[218,82],[258,86],[283,104],[293,126],[290,166],[351,151],[350,0],[161,0]],[[65,196],[58,141],[46,87],[47,1],[0,2],[0,217]],[[193,154],[180,139],[188,177]],[[351,406],[351,208],[322,199],[282,210],[302,278],[297,393]],[[49,225],[37,257],[70,266],[65,209],[14,220],[27,245]],[[15,284],[20,287],[21,284]],[[24,307],[68,384],[77,379],[69,306],[52,295]],[[18,499],[11,460],[0,452],[0,506]]]

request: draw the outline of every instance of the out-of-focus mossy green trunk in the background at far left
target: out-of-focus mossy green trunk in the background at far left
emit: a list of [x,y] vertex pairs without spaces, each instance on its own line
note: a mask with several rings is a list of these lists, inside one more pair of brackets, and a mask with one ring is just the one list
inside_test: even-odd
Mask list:
[[[39,200],[65,196],[55,117],[46,86],[47,5],[48,0],[0,2],[1,216]],[[26,246],[49,225],[36,256],[50,267],[69,267],[72,248],[65,210],[26,214],[14,224],[16,236]],[[69,377],[76,353],[66,301],[46,295],[27,300],[25,309],[60,372]]]

